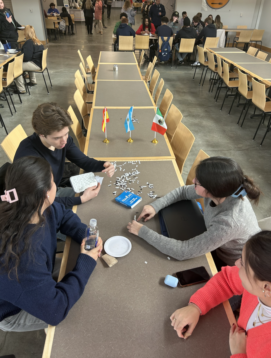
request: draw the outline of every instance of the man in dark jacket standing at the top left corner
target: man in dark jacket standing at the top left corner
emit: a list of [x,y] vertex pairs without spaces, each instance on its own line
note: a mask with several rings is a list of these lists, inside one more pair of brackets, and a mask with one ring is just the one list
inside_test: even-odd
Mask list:
[[5,8],[0,0],[0,41],[4,44],[10,42],[11,48],[19,48],[17,28],[21,25],[15,20],[10,9]]

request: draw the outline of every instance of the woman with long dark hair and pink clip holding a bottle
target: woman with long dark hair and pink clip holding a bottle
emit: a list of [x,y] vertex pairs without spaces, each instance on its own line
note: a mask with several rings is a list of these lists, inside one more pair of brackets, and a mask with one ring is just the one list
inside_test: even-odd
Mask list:
[[[0,329],[19,332],[57,325],[83,294],[102,240],[93,250],[84,249],[87,225],[54,202],[56,186],[45,159],[14,161],[5,185],[0,204]],[[73,271],[56,283],[52,274],[58,230],[80,243],[81,253]]]

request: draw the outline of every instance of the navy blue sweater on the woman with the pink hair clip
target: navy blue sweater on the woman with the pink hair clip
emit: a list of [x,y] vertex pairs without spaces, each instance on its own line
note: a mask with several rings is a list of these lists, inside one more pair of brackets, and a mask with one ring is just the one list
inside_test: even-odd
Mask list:
[[[9,279],[0,271],[0,321],[25,310],[51,325],[59,324],[83,294],[96,261],[80,253],[77,263],[63,279],[56,283],[52,278],[56,252],[56,231],[70,235],[81,243],[85,228],[79,217],[64,205],[53,203],[44,212],[46,223],[31,237],[35,262],[24,253],[20,258],[18,276]],[[33,226],[34,224],[29,224]],[[1,240],[1,239],[0,239]]]

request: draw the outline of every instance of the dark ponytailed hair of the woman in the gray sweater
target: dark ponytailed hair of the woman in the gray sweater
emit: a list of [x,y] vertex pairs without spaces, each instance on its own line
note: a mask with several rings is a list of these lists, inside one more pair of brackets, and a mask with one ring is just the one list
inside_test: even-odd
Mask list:
[[[225,198],[234,194],[243,185],[248,198],[257,205],[261,190],[243,171],[234,159],[215,156],[203,159],[196,166],[196,178],[213,198]],[[242,191],[241,188],[236,194]],[[239,197],[243,199],[242,195]]]

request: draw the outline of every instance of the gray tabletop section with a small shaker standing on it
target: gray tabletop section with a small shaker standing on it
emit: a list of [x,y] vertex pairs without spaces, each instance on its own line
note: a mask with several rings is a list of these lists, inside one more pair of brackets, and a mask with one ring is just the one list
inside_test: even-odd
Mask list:
[[119,64],[118,71],[113,71],[113,64],[99,64],[96,79],[104,80],[134,80],[141,81],[137,64]]

